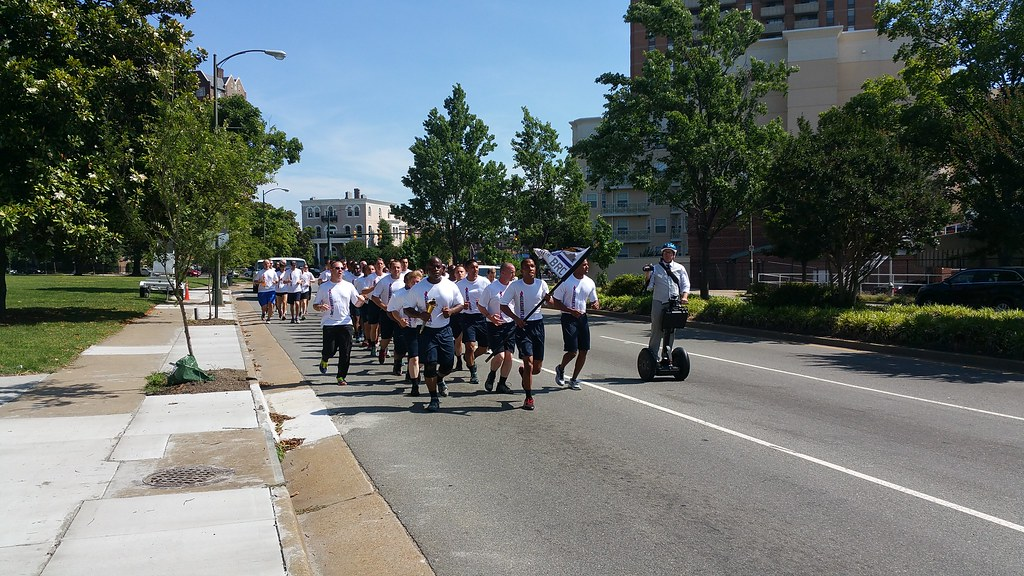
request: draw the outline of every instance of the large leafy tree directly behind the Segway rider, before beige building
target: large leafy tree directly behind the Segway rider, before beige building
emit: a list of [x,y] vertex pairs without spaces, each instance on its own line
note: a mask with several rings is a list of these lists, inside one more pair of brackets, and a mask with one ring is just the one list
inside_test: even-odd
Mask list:
[[764,123],[764,96],[785,92],[796,71],[745,56],[764,31],[749,10],[720,12],[700,0],[695,27],[682,0],[630,4],[626,20],[672,40],[645,54],[636,78],[604,74],[609,87],[596,133],[573,147],[591,183],[630,182],[650,199],[686,211],[696,235],[700,295],[709,296],[711,243],[756,205],[771,152],[784,135],[778,119]]

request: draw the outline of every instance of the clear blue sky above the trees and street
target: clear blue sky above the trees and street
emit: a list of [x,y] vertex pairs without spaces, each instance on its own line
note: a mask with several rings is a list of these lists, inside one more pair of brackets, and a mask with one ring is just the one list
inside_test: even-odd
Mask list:
[[[496,137],[488,156],[512,167],[509,142],[522,107],[571,139],[569,121],[600,116],[605,72],[629,72],[628,0],[194,0],[194,47],[231,58],[249,100],[268,124],[302,140],[302,161],[283,168],[267,203],[299,212],[299,200],[358,188],[402,203],[409,147],[431,109],[462,84],[470,111]],[[203,69],[212,72],[212,61]]]

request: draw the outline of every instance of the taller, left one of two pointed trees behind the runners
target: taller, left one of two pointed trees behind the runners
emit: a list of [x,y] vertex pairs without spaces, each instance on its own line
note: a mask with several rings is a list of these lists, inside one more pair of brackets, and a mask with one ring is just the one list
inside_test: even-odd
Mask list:
[[505,227],[499,202],[509,184],[503,164],[484,161],[495,150],[495,137],[470,113],[459,84],[444,98],[444,111],[447,116],[430,111],[425,134],[410,147],[413,166],[401,183],[413,198],[394,212],[451,261],[464,258],[473,245],[493,241]]

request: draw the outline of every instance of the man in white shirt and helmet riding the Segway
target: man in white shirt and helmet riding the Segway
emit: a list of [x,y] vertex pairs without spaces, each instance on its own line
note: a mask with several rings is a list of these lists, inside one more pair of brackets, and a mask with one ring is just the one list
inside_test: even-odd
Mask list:
[[663,329],[665,311],[674,303],[685,305],[690,293],[690,277],[683,264],[675,261],[676,252],[676,245],[672,242],[663,244],[662,259],[654,265],[644,266],[644,286],[648,292],[653,292],[650,304],[650,340],[647,348],[651,357],[659,359],[659,368],[672,365],[669,351],[672,349],[676,339],[675,330]]

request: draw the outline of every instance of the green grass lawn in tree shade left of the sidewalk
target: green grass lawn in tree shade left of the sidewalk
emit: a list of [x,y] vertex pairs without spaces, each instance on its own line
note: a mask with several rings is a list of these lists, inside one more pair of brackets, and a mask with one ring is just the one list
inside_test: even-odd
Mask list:
[[128,276],[8,276],[0,321],[0,375],[54,372],[145,315],[163,293],[138,296]]

